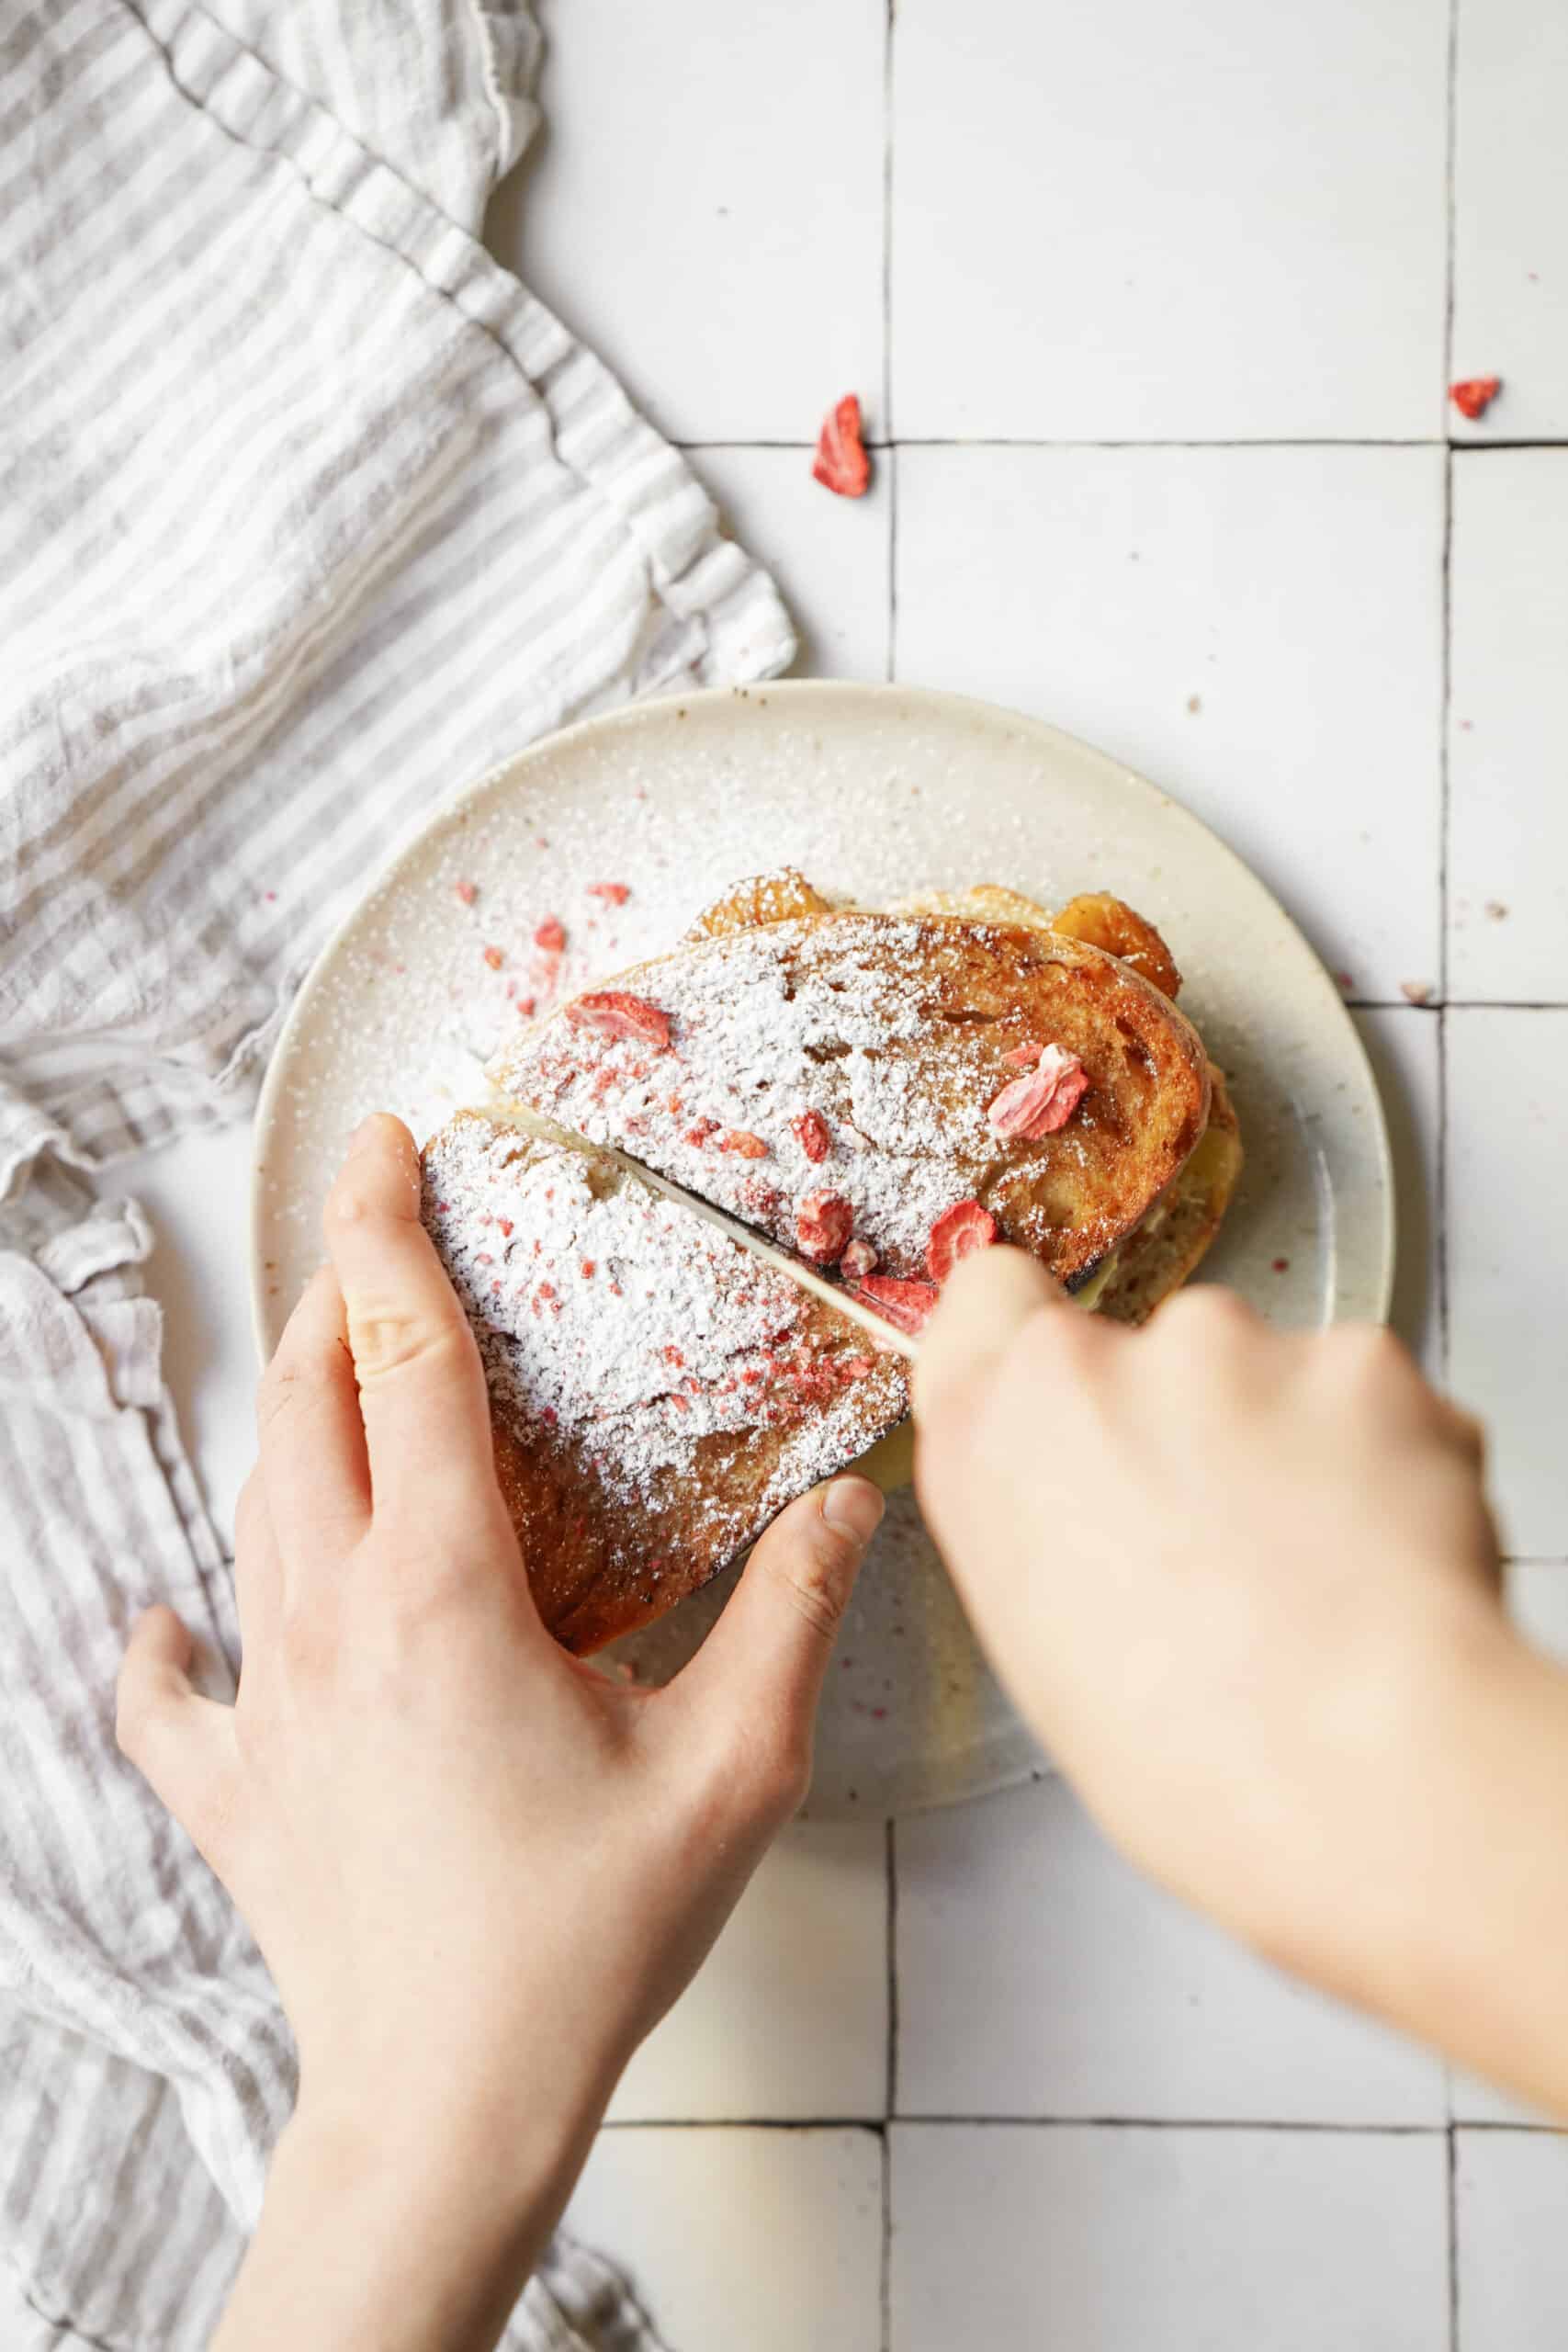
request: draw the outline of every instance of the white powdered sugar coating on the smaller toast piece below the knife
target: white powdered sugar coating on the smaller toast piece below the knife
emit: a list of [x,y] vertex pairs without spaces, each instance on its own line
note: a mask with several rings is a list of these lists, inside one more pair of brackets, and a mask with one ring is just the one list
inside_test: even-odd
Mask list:
[[[853,1324],[599,1155],[458,1117],[425,1148],[425,1223],[515,1435],[581,1449],[628,1505],[679,1477],[715,1566],[907,1409]],[[715,1435],[778,1454],[733,1524]]]

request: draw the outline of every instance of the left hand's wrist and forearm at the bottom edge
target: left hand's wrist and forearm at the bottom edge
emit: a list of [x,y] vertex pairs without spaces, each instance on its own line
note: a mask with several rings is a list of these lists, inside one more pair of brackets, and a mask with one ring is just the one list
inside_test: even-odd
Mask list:
[[583,2169],[604,2100],[517,2122],[301,2103],[214,2352],[489,2352]]

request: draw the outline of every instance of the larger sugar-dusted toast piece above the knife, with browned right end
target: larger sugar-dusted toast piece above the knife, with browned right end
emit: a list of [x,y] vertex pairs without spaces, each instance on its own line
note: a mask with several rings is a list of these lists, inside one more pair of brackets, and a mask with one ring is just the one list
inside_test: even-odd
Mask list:
[[[1086,1091],[1056,1131],[999,1134],[987,1112],[1041,1047],[1077,1056]],[[839,1256],[816,1214],[835,1204],[830,1240],[865,1244],[875,1282],[924,1284],[933,1225],[978,1202],[1077,1289],[1208,1122],[1204,1047],[1147,978],[1079,938],[940,915],[708,936],[564,1004],[489,1077],[818,1265]]]

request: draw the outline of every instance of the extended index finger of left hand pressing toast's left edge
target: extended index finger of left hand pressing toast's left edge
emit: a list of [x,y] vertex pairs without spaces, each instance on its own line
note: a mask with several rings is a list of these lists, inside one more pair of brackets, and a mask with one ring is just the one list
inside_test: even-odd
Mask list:
[[433,1494],[447,1512],[496,1501],[480,1350],[421,1223],[418,1190],[414,1136],[376,1112],[327,1197],[376,1512],[418,1498],[428,1515]]

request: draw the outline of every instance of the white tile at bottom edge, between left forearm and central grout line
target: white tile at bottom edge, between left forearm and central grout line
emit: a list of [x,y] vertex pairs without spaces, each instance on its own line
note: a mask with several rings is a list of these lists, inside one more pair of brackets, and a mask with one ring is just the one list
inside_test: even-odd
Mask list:
[[614,2246],[675,2352],[877,2352],[875,2131],[602,2131],[567,2225]]

